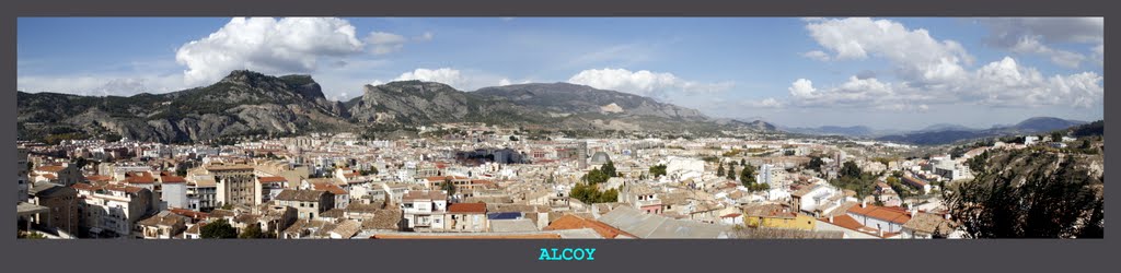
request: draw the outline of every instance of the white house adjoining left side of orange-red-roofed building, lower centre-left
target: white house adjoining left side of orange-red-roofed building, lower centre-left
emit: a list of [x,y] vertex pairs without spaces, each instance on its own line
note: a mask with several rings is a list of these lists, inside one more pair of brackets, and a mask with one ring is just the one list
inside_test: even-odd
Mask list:
[[407,229],[444,229],[447,191],[409,190],[401,196],[401,210]]

